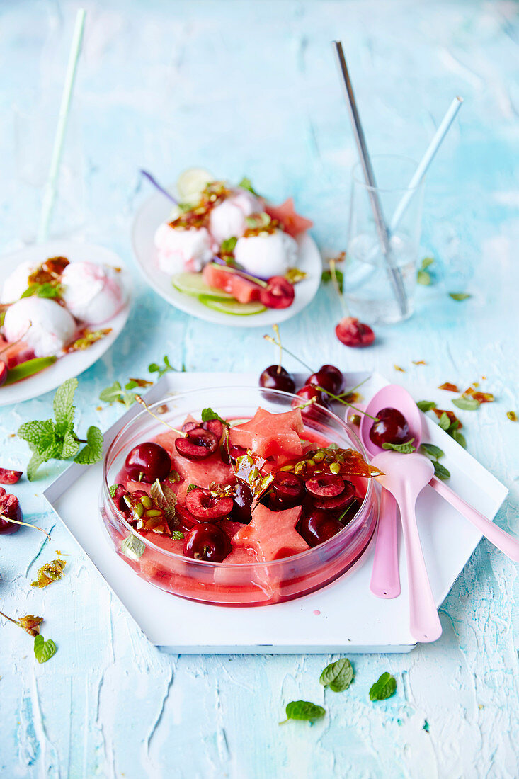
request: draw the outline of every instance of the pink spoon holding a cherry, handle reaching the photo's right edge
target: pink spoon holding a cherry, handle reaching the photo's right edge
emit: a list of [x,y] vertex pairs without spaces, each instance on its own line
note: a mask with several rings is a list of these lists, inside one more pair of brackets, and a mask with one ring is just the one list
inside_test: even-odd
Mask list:
[[[398,386],[397,384],[390,384],[383,387],[382,390],[380,390],[372,397],[368,406],[366,407],[366,411],[368,414],[371,414],[371,416],[376,416],[378,411],[387,407],[397,408],[398,411],[401,411],[401,414],[404,414],[404,417],[408,421],[411,435],[415,439],[414,445],[418,449],[418,446],[420,446],[420,442],[422,440],[422,415],[421,412],[418,411],[418,407],[415,404],[415,401],[412,399],[411,395],[407,390],[404,390],[404,387]],[[369,455],[373,456],[377,453],[383,452],[383,449],[380,449],[379,446],[376,446],[376,444],[374,444],[371,439],[369,439],[369,429],[371,428],[371,425],[372,420],[369,419],[369,417],[363,415],[359,431],[360,437]],[[482,533],[482,535],[484,535],[491,544],[498,548],[500,552],[503,552],[504,555],[507,555],[510,560],[519,562],[519,541],[517,538],[514,538],[505,530],[501,530],[500,527],[494,524],[491,520],[487,519],[486,516],[483,516],[482,513],[477,511],[473,506],[470,505],[470,503],[466,502],[463,498],[457,495],[454,490],[445,484],[444,481],[440,481],[440,479],[436,476],[433,476],[430,484],[431,487],[433,487],[433,489],[435,489],[443,499],[447,500],[451,506],[454,506],[454,509],[456,509],[457,512],[461,513],[461,516],[464,516],[466,520],[477,527],[479,532]],[[387,550],[387,565],[390,565],[390,561],[394,559],[394,548],[396,547],[397,533],[395,526],[394,539],[389,539],[389,541],[387,541],[387,545],[381,548],[381,554],[383,554],[383,549]],[[382,562],[380,562],[380,565],[382,566]],[[382,576],[382,573],[383,567],[381,569],[380,576]]]

